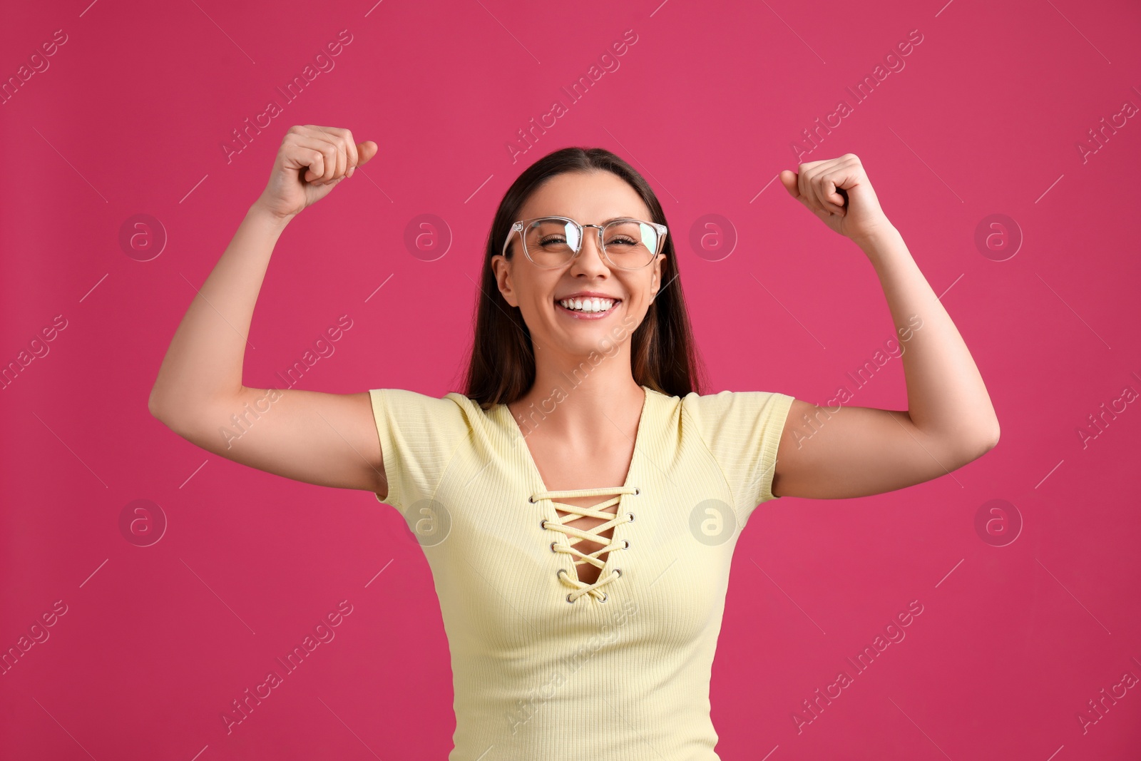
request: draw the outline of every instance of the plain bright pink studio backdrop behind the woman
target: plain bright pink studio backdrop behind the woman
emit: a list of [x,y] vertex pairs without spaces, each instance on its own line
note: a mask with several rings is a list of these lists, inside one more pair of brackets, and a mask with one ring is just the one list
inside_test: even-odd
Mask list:
[[[55,601],[66,613],[0,677],[0,756],[442,759],[452,746],[447,641],[399,515],[210,455],[147,411],[194,286],[291,124],[348,127],[380,155],[283,235],[246,384],[280,386],[347,314],[353,327],[298,388],[458,390],[502,193],[549,151],[599,145],[662,200],[706,390],[824,404],[892,325],[860,251],[772,180],[842,98],[852,113],[801,161],[861,159],[982,372],[1002,440],[912,488],[754,513],[714,663],[718,752],[1141,756],[1141,689],[1100,718],[1087,705],[1141,677],[1141,410],[1120,402],[1095,438],[1079,435],[1141,390],[1141,123],[1107,129],[1085,161],[1076,147],[1141,105],[1133,3],[88,2],[2,13],[5,80],[56,30],[67,41],[0,105],[2,362],[66,319],[0,392],[0,646]],[[351,42],[334,68],[285,103],[275,88],[341,30]],[[618,68],[568,103],[560,88],[626,30],[637,42]],[[857,103],[845,88],[912,30],[922,42],[905,67]],[[270,98],[283,113],[227,163],[221,144]],[[567,113],[512,163],[507,144],[555,99]],[[148,261],[120,244],[140,213],[168,236]],[[405,245],[426,213],[451,237],[438,258]],[[719,260],[689,243],[710,213],[737,237]],[[1023,237],[1002,261],[974,243],[994,213]],[[900,363],[852,404],[906,408]],[[120,527],[133,500],[165,517],[149,547]],[[1020,516],[1013,542],[1002,525],[977,529],[990,500]],[[227,735],[232,701],[341,600],[353,612],[335,639]],[[923,612],[906,638],[798,731],[802,702],[855,673],[845,658],[912,600]],[[1098,718],[1085,731],[1083,710]]]

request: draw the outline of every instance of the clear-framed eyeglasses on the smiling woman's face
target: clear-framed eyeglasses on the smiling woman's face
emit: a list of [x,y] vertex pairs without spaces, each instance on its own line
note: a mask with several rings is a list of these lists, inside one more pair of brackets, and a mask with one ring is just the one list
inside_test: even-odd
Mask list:
[[523,252],[536,267],[564,267],[582,251],[584,227],[598,230],[602,258],[620,269],[640,269],[654,261],[666,234],[665,225],[628,217],[612,219],[605,225],[580,225],[569,217],[536,217],[511,225],[503,241],[503,256],[507,256],[511,237],[519,233]]

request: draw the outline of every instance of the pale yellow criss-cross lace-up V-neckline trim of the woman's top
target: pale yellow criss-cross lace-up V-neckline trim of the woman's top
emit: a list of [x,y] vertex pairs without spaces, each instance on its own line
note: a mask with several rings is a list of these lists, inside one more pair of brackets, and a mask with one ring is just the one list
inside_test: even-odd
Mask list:
[[[612,539],[609,540],[607,540],[605,536],[601,536],[600,534],[601,532],[605,532],[608,528],[621,526],[623,524],[628,524],[634,520],[634,513],[632,511],[623,511],[621,509],[621,501],[623,496],[626,494],[637,495],[641,492],[639,487],[631,486],[630,480],[638,464],[638,453],[641,450],[641,443],[644,440],[644,437],[647,435],[646,411],[650,405],[650,395],[656,394],[656,391],[654,391],[647,386],[642,386],[641,388],[645,391],[646,396],[642,399],[641,414],[638,418],[638,430],[634,434],[633,454],[631,455],[630,467],[626,469],[625,483],[622,486],[617,487],[559,489],[559,491],[552,491],[547,488],[547,484],[543,481],[543,476],[539,471],[539,465],[535,464],[535,459],[531,454],[531,448],[527,446],[526,437],[524,436],[523,430],[519,428],[518,421],[515,419],[515,415],[511,414],[511,411],[508,408],[505,404],[500,405],[501,413],[507,416],[508,421],[510,421],[507,422],[507,424],[510,427],[510,430],[515,431],[516,445],[523,448],[524,458],[531,465],[529,470],[532,472],[532,479],[535,483],[535,485],[539,486],[537,491],[533,492],[527,497],[527,501],[533,504],[541,503],[544,500],[548,501],[550,503],[551,508],[550,512],[553,516],[553,518],[543,518],[540,526],[543,532],[556,531],[561,533],[563,536],[565,537],[565,541],[551,542],[550,543],[551,551],[566,553],[574,558],[574,562],[569,570],[567,568],[559,568],[557,572],[559,581],[563,582],[564,585],[570,588],[572,590],[566,596],[567,602],[574,602],[584,594],[590,594],[598,602],[606,602],[609,594],[601,588],[607,584],[612,584],[622,576],[621,567],[617,566],[612,567],[612,559],[614,558],[613,553],[617,550],[628,549],[630,542],[625,539],[620,539],[616,535],[617,529],[615,529],[615,532],[612,534]],[[615,494],[617,496],[613,496]],[[578,496],[606,496],[606,495],[612,495],[612,496],[609,500],[604,500],[602,502],[599,502],[591,507],[580,507],[557,501],[557,500],[573,499]],[[608,508],[615,503],[620,503],[620,508],[616,509],[615,513],[604,512],[605,508]],[[568,512],[570,515],[564,519],[559,519],[558,512],[556,512],[556,505],[558,510],[563,510],[564,512]],[[590,529],[582,529],[576,526],[567,526],[564,523],[565,520],[575,520],[582,516],[601,518],[605,519],[605,523],[594,526],[593,528]],[[575,544],[577,544],[583,540],[598,542],[599,544],[602,544],[602,547],[590,553],[582,552],[575,547]],[[598,557],[604,553],[606,553],[605,561],[599,559]],[[577,576],[578,566],[588,562],[599,569],[598,580],[594,581],[592,584],[583,582]]]

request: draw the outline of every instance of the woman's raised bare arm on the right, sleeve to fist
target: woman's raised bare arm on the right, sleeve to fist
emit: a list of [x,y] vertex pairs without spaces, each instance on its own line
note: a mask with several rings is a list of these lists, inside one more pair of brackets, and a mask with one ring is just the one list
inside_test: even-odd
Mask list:
[[875,268],[900,339],[907,410],[795,399],[772,476],[776,496],[866,496],[965,465],[998,443],[998,418],[963,337],[880,209],[853,154],[785,170],[788,193]]

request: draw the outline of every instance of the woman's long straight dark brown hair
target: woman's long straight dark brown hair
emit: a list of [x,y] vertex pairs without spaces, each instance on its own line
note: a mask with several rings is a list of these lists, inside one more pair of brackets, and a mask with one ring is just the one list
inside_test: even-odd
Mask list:
[[[523,397],[535,382],[535,354],[531,331],[523,314],[500,293],[492,258],[502,252],[503,241],[519,210],[547,179],[570,171],[605,170],[621,177],[641,196],[650,220],[667,225],[662,204],[641,175],[606,148],[568,147],[547,154],[525,169],[500,202],[487,234],[480,296],[476,306],[476,332],[467,371],[466,396],[487,410]],[[630,335],[630,364],[634,381],[666,396],[701,392],[704,374],[686,313],[674,254],[675,230],[665,236],[662,253],[662,288],[649,305],[641,324]],[[509,246],[510,260],[516,246]]]

